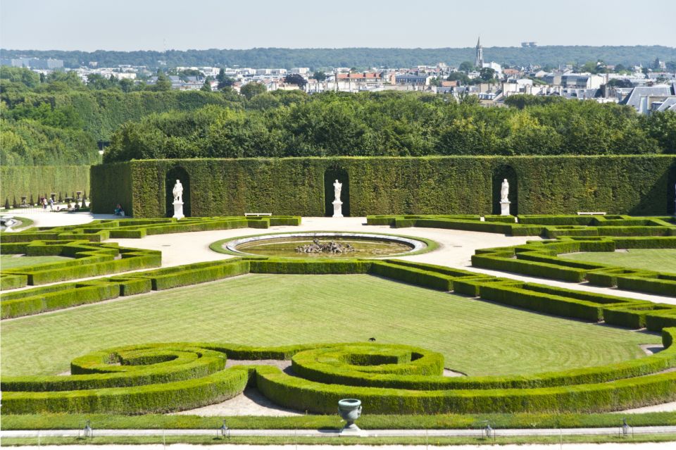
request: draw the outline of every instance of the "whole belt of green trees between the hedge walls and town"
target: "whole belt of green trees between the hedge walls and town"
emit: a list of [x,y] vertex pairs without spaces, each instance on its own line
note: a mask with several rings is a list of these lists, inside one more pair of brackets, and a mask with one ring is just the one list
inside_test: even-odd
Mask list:
[[[484,108],[475,96],[415,92],[242,94],[84,85],[73,73],[0,72],[0,163],[88,165],[133,158],[647,154],[674,152],[676,114],[556,97],[511,96]],[[220,82],[219,82],[220,84]]]

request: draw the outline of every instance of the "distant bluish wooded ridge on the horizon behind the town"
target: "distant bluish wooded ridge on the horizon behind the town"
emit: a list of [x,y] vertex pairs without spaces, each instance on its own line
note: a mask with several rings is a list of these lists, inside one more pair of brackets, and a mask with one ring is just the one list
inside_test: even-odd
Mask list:
[[[6,50],[4,58],[57,58],[65,67],[77,68],[96,61],[99,67],[116,67],[120,64],[144,65],[148,68],[199,66],[214,67],[239,65],[251,68],[309,67],[414,67],[434,65],[439,62],[459,65],[474,61],[474,47],[440,49],[280,49],[258,48],[246,50],[168,50],[168,51],[59,51],[59,50]],[[551,65],[605,61],[608,64],[649,65],[655,58],[676,61],[676,48],[670,46],[536,46],[484,48],[484,60],[508,65]]]

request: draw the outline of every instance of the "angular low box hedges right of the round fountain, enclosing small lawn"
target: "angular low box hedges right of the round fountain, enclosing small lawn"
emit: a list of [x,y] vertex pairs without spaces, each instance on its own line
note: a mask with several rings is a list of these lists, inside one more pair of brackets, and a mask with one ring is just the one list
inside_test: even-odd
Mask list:
[[558,254],[577,251],[674,249],[676,224],[673,220],[670,217],[636,218],[628,215],[485,216],[483,220],[479,215],[371,215],[367,223],[542,236],[553,240],[477,250],[472,256],[472,265],[553,280],[587,281],[593,285],[676,296],[676,274],[557,257]]

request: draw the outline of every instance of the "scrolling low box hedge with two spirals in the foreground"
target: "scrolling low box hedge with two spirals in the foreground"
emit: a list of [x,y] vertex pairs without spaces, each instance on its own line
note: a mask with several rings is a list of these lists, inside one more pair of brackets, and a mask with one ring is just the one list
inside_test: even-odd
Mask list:
[[[251,347],[220,343],[142,344],[76,358],[64,376],[2,377],[4,413],[165,413],[213,404],[256,386],[280,406],[334,413],[358,398],[370,413],[602,412],[676,399],[671,346],[600,367],[530,377],[443,376],[441,354],[405,345],[347,343]],[[233,360],[291,359],[294,375]]]

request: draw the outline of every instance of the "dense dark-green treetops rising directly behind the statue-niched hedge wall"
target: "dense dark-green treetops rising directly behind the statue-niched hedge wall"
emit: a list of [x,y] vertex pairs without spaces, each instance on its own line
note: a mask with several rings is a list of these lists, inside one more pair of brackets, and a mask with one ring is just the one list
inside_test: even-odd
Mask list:
[[670,145],[654,130],[665,125],[658,126],[651,119],[649,132],[648,123],[632,108],[594,101],[513,96],[509,101],[518,108],[483,108],[432,94],[327,92],[284,108],[262,85],[249,83],[242,87],[242,94],[249,100],[246,111],[211,107],[152,116],[127,125],[115,133],[105,161],[652,154],[668,151]]

